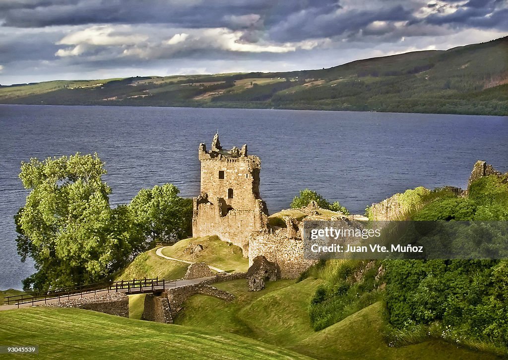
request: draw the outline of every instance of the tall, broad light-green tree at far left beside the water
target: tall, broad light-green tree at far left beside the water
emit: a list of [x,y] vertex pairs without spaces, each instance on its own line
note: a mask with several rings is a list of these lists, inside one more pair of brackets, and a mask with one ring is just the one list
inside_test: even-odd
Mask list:
[[32,257],[37,270],[23,280],[25,290],[97,282],[131,257],[139,237],[125,231],[121,209],[110,208],[104,174],[97,154],[21,163],[31,191],[15,216],[16,241],[22,261]]

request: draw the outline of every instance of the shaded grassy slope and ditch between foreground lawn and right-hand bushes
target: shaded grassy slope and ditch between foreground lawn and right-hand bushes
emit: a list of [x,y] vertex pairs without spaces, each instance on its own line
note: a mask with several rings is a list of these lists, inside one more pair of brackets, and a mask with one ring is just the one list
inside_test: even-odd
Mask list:
[[268,282],[259,292],[249,292],[245,280],[216,284],[235,294],[227,303],[196,295],[183,304],[175,323],[230,332],[283,346],[323,359],[495,359],[491,354],[459,348],[441,340],[404,347],[389,347],[382,335],[380,303],[369,306],[320,332],[310,325],[307,308],[321,280]]

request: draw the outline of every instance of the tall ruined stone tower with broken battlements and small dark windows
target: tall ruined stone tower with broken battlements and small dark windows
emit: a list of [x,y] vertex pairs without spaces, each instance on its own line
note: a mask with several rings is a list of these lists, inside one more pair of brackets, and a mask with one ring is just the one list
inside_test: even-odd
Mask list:
[[193,237],[217,235],[247,256],[250,233],[267,228],[268,211],[259,194],[261,160],[247,145],[225,150],[215,134],[209,151],[199,145],[201,195],[194,198]]

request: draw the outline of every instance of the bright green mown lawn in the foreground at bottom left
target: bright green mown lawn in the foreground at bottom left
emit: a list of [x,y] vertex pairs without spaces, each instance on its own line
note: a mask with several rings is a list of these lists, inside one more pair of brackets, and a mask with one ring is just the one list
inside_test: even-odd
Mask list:
[[39,346],[38,355],[23,358],[307,358],[233,334],[80,309],[40,307],[1,311],[0,323],[1,345]]

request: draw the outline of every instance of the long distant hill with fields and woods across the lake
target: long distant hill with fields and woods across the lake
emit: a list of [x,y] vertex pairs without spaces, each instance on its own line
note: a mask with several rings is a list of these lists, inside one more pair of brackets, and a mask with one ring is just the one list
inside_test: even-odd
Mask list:
[[508,37],[330,69],[0,86],[0,104],[275,108],[508,115]]

